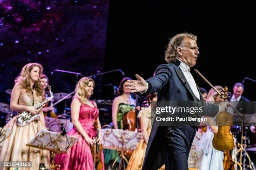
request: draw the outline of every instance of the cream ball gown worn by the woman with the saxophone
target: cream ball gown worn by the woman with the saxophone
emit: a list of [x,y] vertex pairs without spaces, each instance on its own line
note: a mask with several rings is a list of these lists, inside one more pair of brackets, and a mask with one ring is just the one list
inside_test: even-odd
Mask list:
[[[18,104],[32,106],[32,99],[32,94],[29,95],[25,90],[21,90]],[[34,93],[34,105],[41,101],[42,97],[37,97]],[[20,112],[18,114],[20,114]],[[13,132],[5,139],[5,143],[0,150],[0,161],[32,161],[32,168],[21,168],[22,170],[38,170],[40,163],[49,166],[49,151],[26,146],[26,144],[36,136],[38,130],[46,128],[43,112],[40,112],[40,120],[31,122],[24,127],[17,126],[16,117],[17,116],[13,117],[13,119],[5,125],[12,127]],[[4,168],[4,170],[7,169],[8,168]]]

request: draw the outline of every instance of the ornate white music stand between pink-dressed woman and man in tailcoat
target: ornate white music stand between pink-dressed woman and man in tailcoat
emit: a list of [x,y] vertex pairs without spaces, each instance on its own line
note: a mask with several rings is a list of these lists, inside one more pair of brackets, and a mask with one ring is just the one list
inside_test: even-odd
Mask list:
[[142,138],[142,133],[122,129],[102,129],[102,135],[103,148],[120,151],[120,155],[115,159],[111,169],[113,169],[119,158],[118,170],[121,170],[122,164],[124,169],[126,169],[125,162],[128,164],[128,160],[125,158],[124,153],[135,150],[138,142]]

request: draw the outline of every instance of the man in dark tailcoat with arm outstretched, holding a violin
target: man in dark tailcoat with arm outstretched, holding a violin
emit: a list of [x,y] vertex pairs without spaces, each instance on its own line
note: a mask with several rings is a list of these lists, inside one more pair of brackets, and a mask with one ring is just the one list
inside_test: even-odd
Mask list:
[[[194,101],[203,106],[202,114],[197,117],[215,117],[223,111],[221,105],[208,104],[203,101],[200,90],[190,73],[190,67],[195,66],[199,55],[197,36],[189,33],[175,35],[165,52],[167,64],[159,65],[156,75],[144,80],[136,75],[138,80],[129,80],[131,92],[148,95],[158,92],[159,101]],[[160,126],[156,119],[153,122],[143,170],[157,170],[165,164],[166,170],[188,170],[189,151],[198,129],[195,126]]]

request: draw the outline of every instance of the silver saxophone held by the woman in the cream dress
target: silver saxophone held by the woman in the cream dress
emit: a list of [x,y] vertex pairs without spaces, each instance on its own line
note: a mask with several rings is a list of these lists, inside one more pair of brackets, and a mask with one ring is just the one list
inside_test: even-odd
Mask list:
[[[53,93],[51,92],[51,86],[48,86],[49,92],[50,92],[50,97],[47,97],[46,100],[43,102],[39,103],[38,105],[35,106],[36,110],[40,110],[42,106],[46,104],[46,102],[49,102],[50,100],[53,99]],[[26,126],[29,123],[39,120],[40,119],[40,114],[32,114],[31,112],[24,111],[20,115],[17,116],[17,125],[18,126]]]

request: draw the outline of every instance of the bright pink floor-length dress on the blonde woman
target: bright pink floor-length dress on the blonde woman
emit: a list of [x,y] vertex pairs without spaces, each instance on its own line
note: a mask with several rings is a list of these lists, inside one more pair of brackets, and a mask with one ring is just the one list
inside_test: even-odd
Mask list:
[[[92,102],[94,105],[94,103]],[[90,138],[96,137],[97,130],[95,130],[93,122],[97,120],[99,110],[97,107],[90,107],[81,102],[79,112],[79,122],[84,131]],[[75,128],[70,130],[67,135],[79,138],[79,141],[66,154],[56,154],[55,164],[61,165],[61,170],[93,170],[93,158],[90,146],[84,138],[77,132]],[[101,159],[104,160],[103,151]],[[105,170],[104,163],[103,169]]]

